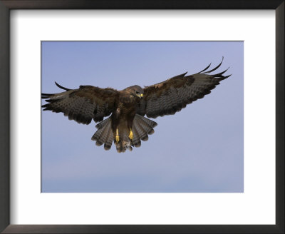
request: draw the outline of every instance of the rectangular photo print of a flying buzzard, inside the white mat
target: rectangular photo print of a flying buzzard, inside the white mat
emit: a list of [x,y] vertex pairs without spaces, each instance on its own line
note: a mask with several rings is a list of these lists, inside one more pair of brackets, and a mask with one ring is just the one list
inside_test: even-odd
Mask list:
[[243,41],[42,41],[41,192],[243,193]]

